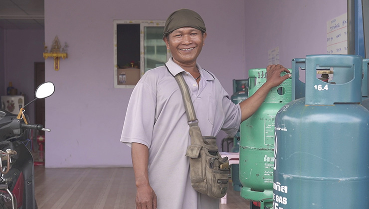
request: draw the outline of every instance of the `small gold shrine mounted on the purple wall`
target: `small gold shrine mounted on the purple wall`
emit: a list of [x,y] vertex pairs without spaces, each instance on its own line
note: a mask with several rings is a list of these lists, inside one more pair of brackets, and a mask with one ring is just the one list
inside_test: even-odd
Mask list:
[[68,58],[67,42],[65,42],[63,48],[61,48],[58,36],[55,36],[54,40],[52,41],[50,52],[48,52],[47,46],[45,46],[45,43],[43,44],[43,48],[44,48],[43,58],[45,59],[48,57],[54,58],[54,69],[58,71],[60,58],[63,58],[63,59]]

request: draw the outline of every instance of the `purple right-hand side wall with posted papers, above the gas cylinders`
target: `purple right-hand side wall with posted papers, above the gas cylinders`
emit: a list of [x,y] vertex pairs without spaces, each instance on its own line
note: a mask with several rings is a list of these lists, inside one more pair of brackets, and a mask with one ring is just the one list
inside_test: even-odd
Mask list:
[[280,64],[326,54],[327,21],[347,12],[347,0],[248,0],[245,3],[246,68],[268,62],[279,47]]

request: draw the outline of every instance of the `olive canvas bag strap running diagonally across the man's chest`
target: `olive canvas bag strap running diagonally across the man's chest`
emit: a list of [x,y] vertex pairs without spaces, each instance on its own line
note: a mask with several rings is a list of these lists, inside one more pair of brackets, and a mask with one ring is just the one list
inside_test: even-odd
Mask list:
[[196,113],[195,113],[195,110],[193,108],[193,104],[192,104],[191,96],[189,94],[188,86],[187,86],[186,82],[184,81],[182,73],[177,74],[175,76],[175,79],[176,79],[176,81],[177,81],[177,83],[178,83],[178,85],[180,86],[180,89],[181,89],[182,98],[183,98],[183,102],[184,102],[184,107],[186,109],[186,114],[187,114],[188,125],[189,126],[197,125],[198,120],[196,118]]

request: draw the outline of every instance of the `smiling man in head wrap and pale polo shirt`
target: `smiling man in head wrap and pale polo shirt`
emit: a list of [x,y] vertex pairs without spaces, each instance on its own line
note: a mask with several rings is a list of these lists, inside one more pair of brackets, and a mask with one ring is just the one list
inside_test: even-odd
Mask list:
[[249,99],[233,104],[216,77],[196,59],[206,39],[205,24],[189,9],[167,19],[163,40],[172,58],[165,66],[145,73],[132,92],[121,141],[132,147],[137,209],[217,209],[219,200],[197,193],[189,179],[189,126],[180,88],[174,78],[184,75],[198,125],[204,136],[220,129],[236,134],[241,121],[263,103],[271,88],[289,75],[281,65],[270,65],[267,82]]

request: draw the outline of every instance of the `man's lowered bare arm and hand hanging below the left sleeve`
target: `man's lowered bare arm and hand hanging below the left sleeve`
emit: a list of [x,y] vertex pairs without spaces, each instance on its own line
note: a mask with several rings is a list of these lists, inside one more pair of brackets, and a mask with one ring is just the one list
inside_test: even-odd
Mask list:
[[149,183],[149,148],[140,143],[132,143],[132,164],[136,179],[136,209],[156,209],[157,199]]

